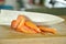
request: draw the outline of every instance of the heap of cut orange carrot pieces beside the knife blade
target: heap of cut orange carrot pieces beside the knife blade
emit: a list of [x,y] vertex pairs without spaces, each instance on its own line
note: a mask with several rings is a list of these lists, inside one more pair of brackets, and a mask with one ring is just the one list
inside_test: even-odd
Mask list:
[[24,15],[18,15],[16,20],[12,20],[11,28],[18,32],[36,34],[36,33],[52,33],[55,34],[56,30],[44,25],[36,25]]

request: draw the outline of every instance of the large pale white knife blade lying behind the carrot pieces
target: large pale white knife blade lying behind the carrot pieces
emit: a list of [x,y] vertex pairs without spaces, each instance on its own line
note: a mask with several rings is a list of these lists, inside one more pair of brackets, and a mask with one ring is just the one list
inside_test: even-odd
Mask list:
[[19,14],[25,15],[30,18],[33,22],[41,25],[52,25],[56,23],[61,23],[64,21],[64,19],[46,14],[46,13],[35,13],[35,12],[25,12],[25,11],[11,11],[11,10],[1,10],[0,14],[0,24],[7,24],[10,25],[11,21],[16,19]]

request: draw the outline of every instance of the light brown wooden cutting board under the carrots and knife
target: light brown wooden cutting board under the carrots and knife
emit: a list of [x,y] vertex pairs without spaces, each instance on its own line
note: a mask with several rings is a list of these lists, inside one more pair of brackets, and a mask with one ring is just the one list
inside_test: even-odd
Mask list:
[[0,25],[0,44],[66,44],[66,28],[62,25],[52,25],[52,28],[61,28],[55,35],[23,34],[8,25]]

